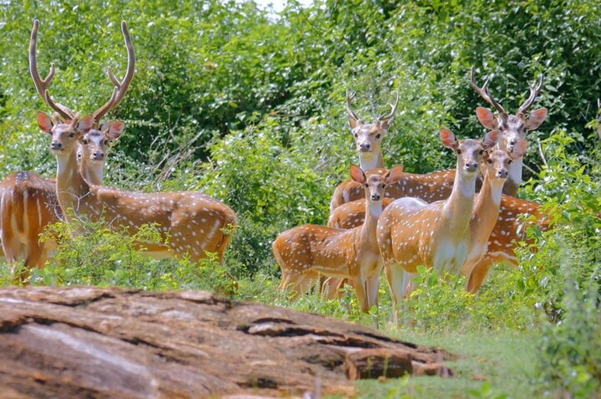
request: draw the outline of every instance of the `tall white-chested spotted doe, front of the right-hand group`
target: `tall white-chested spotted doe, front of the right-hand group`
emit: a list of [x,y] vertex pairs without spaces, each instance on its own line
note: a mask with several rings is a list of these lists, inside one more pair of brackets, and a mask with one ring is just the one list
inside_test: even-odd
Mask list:
[[[377,242],[394,304],[406,295],[406,272],[415,273],[417,266],[423,265],[459,273],[468,259],[476,176],[485,152],[496,145],[499,136],[500,132],[493,130],[483,141],[459,141],[450,130],[442,129],[442,143],[457,155],[451,195],[433,203],[404,197],[383,210]],[[397,316],[395,307],[395,320]]]

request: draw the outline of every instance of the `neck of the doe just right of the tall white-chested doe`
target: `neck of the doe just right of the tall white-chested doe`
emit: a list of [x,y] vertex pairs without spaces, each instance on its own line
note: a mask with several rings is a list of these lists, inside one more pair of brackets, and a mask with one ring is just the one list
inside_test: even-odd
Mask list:
[[472,237],[488,239],[495,227],[504,182],[504,180],[490,178],[488,172],[484,173],[484,181],[475,200],[474,215],[470,223]]

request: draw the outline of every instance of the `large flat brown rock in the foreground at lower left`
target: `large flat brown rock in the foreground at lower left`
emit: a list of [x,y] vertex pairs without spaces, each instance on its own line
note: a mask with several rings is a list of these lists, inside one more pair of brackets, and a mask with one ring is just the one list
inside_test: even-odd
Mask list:
[[0,289],[2,397],[352,395],[353,379],[439,374],[448,353],[209,292]]

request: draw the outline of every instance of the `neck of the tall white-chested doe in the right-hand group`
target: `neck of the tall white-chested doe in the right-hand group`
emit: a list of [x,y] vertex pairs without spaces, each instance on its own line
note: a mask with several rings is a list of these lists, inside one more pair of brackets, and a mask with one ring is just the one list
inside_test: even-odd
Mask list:
[[447,220],[445,224],[451,232],[463,234],[468,227],[474,209],[476,177],[476,173],[466,175],[459,169],[459,164],[457,165],[453,191],[443,207],[443,217]]

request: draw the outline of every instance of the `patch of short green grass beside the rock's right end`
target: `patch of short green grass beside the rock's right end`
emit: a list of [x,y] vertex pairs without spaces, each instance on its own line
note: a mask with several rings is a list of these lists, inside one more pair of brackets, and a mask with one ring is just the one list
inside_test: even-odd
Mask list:
[[430,335],[402,331],[392,335],[459,356],[447,362],[454,377],[360,381],[359,397],[400,398],[408,394],[424,398],[528,398],[540,394],[542,387],[533,383],[539,339],[535,334],[479,331]]

